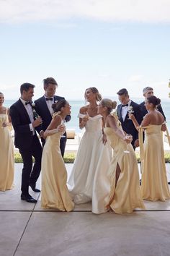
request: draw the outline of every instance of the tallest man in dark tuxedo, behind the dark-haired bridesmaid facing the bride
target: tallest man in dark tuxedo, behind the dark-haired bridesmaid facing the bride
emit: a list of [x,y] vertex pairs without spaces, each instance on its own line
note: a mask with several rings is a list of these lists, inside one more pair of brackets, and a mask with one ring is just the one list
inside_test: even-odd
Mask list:
[[[58,84],[55,81],[53,77],[48,77],[43,80],[45,95],[43,95],[41,98],[38,98],[35,101],[35,109],[37,111],[37,114],[39,114],[42,118],[42,129],[45,132],[45,129],[48,128],[48,125],[50,124],[50,121],[52,120],[53,116],[53,103],[57,101],[61,101],[64,98],[60,96],[55,95],[55,90],[58,88]],[[66,121],[70,121],[71,116],[66,116]],[[66,148],[66,132],[63,135],[64,137],[61,137],[61,155],[64,155],[65,148]],[[42,137],[42,146],[45,145],[45,140]]]

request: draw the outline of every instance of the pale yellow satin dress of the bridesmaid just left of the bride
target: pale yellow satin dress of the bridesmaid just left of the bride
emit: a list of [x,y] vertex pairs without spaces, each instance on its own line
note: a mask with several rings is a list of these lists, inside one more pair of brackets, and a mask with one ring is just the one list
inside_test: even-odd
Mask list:
[[73,210],[74,203],[66,185],[67,171],[61,156],[61,132],[47,137],[42,151],[42,208]]

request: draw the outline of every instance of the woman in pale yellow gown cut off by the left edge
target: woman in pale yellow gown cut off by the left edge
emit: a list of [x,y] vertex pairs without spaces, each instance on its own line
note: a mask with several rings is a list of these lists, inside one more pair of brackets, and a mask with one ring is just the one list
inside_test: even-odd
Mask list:
[[10,134],[12,124],[9,109],[3,103],[4,94],[0,93],[0,191],[12,189],[14,182],[14,145]]

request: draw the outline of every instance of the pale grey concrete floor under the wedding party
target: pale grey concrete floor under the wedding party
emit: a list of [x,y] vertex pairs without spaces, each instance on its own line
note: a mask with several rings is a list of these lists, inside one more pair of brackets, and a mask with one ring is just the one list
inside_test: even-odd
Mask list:
[[[66,168],[69,175],[72,165]],[[21,172],[18,163],[14,189],[0,192],[0,256],[170,255],[170,200],[145,201],[146,211],[124,215],[94,215],[91,203],[71,213],[43,210],[39,193],[30,190],[37,204],[20,200]]]

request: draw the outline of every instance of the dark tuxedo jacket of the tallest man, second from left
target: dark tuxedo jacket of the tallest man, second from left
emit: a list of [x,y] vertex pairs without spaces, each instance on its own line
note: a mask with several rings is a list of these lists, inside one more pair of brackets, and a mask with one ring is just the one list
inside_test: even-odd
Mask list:
[[[63,97],[60,96],[54,96],[54,102],[64,100]],[[50,111],[48,109],[47,103],[45,101],[45,97],[42,96],[41,98],[38,98],[35,101],[35,110],[37,111],[37,114],[42,118],[42,129],[45,131],[45,129],[48,128],[48,125],[50,124],[50,121],[52,120],[52,116],[50,114]],[[66,121],[70,121],[71,116],[66,116]]]

